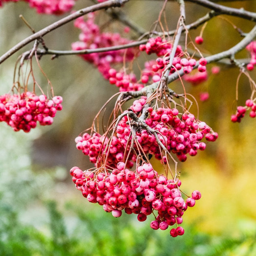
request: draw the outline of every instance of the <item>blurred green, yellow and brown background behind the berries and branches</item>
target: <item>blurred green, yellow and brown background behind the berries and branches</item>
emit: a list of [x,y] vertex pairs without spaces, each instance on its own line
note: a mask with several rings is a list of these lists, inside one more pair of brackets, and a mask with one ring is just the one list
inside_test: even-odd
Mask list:
[[[76,9],[89,4],[89,0],[78,0]],[[225,4],[256,12],[255,1]],[[150,30],[161,7],[160,1],[132,0],[122,10]],[[169,30],[176,28],[178,10],[175,2],[167,4]],[[208,9],[186,3],[186,11],[189,24]],[[20,14],[36,31],[62,17],[38,15],[25,2],[4,4],[0,9],[0,55],[31,34]],[[108,16],[101,13],[100,22],[106,19]],[[245,33],[254,26],[226,15],[213,18],[204,29],[204,43],[198,46],[202,53],[214,54],[238,43],[241,37],[232,24]],[[192,39],[201,28],[190,31]],[[79,33],[71,22],[44,40],[50,49],[70,50]],[[33,43],[24,47],[0,65],[1,95],[11,90],[17,57],[32,46]],[[247,57],[246,50],[236,55],[237,59]],[[13,132],[0,123],[0,255],[256,255],[256,120],[247,113],[240,124],[230,121],[236,110],[237,67],[217,63],[219,74],[210,73],[211,65],[206,82],[197,86],[185,84],[187,93],[197,99],[199,119],[218,132],[219,138],[207,143],[205,151],[178,165],[182,190],[191,193],[198,189],[202,198],[184,214],[185,234],[171,238],[169,229],[151,230],[151,216],[143,223],[136,216],[113,218],[101,206],[88,203],[69,176],[73,166],[92,167],[87,156],[76,150],[74,139],[91,126],[102,104],[118,88],[109,85],[95,67],[79,56],[54,60],[43,56],[40,65],[52,82],[54,94],[63,96],[63,110],[51,126],[37,127],[28,134]],[[37,65],[33,71],[47,91],[47,80]],[[250,75],[256,78],[255,71]],[[180,82],[174,82],[171,88],[182,92]],[[200,93],[205,91],[210,97],[201,102]],[[244,105],[250,93],[248,78],[241,76],[237,105]],[[113,104],[109,104],[105,115],[111,113]],[[196,114],[197,107],[193,106],[191,112]],[[154,165],[157,167],[158,163],[155,161]]]

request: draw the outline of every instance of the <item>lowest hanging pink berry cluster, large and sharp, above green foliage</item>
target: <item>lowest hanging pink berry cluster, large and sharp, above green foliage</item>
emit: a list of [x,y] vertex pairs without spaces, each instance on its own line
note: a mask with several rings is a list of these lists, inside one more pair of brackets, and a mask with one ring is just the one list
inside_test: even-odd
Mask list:
[[184,234],[184,229],[178,226],[183,221],[182,215],[201,197],[199,191],[193,191],[191,197],[184,200],[180,180],[159,175],[150,163],[137,166],[135,171],[127,169],[124,162],[118,162],[111,170],[82,171],[72,167],[70,174],[76,188],[89,202],[100,204],[114,217],[120,217],[123,211],[134,213],[138,221],[145,221],[148,215],[157,212],[150,227],[166,230],[176,225],[170,230],[173,237]]

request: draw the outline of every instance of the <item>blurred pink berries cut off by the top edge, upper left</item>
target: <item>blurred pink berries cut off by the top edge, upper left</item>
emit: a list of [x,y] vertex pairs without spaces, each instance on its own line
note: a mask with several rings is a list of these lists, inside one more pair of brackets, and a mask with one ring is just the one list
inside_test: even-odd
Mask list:
[[[35,8],[37,13],[60,15],[71,11],[76,0],[22,0]],[[19,2],[19,0],[0,0],[0,7],[4,2]]]

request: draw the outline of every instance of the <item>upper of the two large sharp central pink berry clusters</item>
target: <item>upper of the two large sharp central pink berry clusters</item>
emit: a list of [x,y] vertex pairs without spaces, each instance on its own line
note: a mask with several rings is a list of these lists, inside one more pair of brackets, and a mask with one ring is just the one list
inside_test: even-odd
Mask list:
[[[145,97],[135,100],[130,109],[139,116],[145,102]],[[147,111],[149,115],[144,124],[158,132],[159,141],[165,145],[169,152],[176,154],[180,161],[186,161],[187,154],[195,156],[197,150],[204,150],[206,144],[201,141],[204,137],[207,141],[215,141],[218,137],[217,132],[213,132],[206,123],[198,121],[193,114],[184,113],[178,117],[179,111],[176,108],[153,110],[152,107],[149,107]],[[132,121],[130,118],[129,120]],[[136,140],[141,145],[143,152],[152,154],[165,163],[159,149],[159,141],[155,135],[148,132],[145,127],[137,128],[139,129],[136,132]],[[108,164],[115,165],[119,161],[123,161],[124,155],[130,150],[130,135],[131,127],[128,123],[128,117],[124,116],[117,125],[111,140],[106,137],[106,134],[100,135],[95,132],[93,135],[89,135],[85,133],[76,137],[76,148],[88,155],[92,163],[96,163],[97,159],[99,161],[99,157],[104,151],[108,152]],[[140,149],[136,145],[134,148],[138,153]],[[136,157],[136,154],[132,152],[129,161],[136,162]],[[128,165],[130,167],[132,164],[129,162]]]

